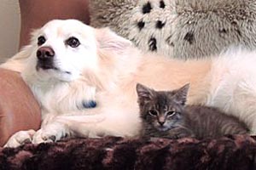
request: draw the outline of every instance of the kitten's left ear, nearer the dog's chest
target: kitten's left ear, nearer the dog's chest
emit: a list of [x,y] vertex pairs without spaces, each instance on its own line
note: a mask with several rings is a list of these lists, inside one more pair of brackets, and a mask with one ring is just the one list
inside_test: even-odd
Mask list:
[[143,84],[137,83],[136,86],[138,100],[147,101],[152,99],[154,90],[144,86]]

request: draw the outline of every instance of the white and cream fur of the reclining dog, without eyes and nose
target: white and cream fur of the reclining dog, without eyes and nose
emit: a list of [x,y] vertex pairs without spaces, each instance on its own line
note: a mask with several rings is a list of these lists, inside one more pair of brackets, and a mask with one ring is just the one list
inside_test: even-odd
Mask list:
[[[55,51],[57,70],[37,71],[37,38],[44,35]],[[65,44],[77,37],[78,48]],[[134,137],[140,128],[136,84],[157,90],[190,83],[189,104],[213,105],[241,118],[256,133],[256,52],[231,49],[205,60],[176,60],[143,54],[108,29],[77,20],[53,20],[35,31],[31,45],[2,65],[20,71],[42,106],[43,122],[35,132],[15,133],[5,146],[65,135]],[[96,100],[93,109],[82,101]]]

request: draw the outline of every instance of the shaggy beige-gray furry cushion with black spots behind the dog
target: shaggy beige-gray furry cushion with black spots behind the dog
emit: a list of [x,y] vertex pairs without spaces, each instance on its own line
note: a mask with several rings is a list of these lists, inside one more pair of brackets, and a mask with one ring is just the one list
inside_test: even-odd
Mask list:
[[256,47],[252,0],[92,0],[90,14],[91,26],[109,26],[143,50],[175,58]]

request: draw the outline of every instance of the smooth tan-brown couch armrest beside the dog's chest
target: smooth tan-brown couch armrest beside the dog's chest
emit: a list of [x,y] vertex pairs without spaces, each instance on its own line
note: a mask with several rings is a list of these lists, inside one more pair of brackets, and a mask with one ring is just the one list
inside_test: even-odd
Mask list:
[[37,130],[40,122],[38,102],[20,74],[0,69],[0,146],[17,131]]

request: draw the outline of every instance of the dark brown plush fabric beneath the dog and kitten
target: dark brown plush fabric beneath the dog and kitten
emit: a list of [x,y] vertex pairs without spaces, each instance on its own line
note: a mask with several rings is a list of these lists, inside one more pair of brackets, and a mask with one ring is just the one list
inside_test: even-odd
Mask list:
[[241,135],[205,140],[68,139],[0,148],[0,169],[253,170],[255,154],[255,140]]

